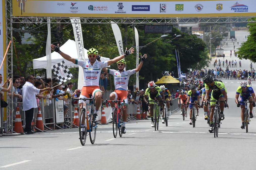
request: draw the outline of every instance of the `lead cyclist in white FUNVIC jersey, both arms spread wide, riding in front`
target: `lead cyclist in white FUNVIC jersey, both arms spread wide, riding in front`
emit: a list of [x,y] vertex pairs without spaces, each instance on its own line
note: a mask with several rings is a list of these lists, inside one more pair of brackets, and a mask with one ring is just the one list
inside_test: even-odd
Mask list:
[[[85,60],[78,60],[75,58],[71,58],[69,55],[63,53],[60,51],[59,44],[58,46],[55,46],[51,44],[51,49],[55,52],[59,53],[63,58],[66,60],[77,64],[83,68],[84,72],[84,81],[83,81],[83,87],[81,89],[80,98],[89,98],[89,94],[91,94],[95,98],[95,112],[94,116],[96,116],[95,121],[98,121],[98,114],[100,114],[101,111],[99,111],[99,108],[101,106],[101,97],[102,97],[102,91],[99,88],[99,79],[100,79],[100,72],[102,68],[109,66],[127,55],[130,55],[134,52],[134,48],[130,48],[129,50],[125,50],[125,53],[121,56],[115,57],[114,59],[104,61],[104,62],[98,62],[96,60],[97,55],[99,52],[95,48],[90,48],[87,51],[88,54],[88,61]],[[79,101],[80,103],[81,101]],[[82,109],[82,104],[79,104],[80,109]],[[79,113],[80,114],[80,113]]]

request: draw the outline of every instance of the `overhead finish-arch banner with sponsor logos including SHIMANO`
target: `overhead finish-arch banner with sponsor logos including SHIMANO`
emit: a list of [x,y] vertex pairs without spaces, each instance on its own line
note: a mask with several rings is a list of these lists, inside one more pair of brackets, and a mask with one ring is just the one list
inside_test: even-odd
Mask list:
[[[22,4],[24,2],[24,4]],[[255,16],[255,0],[225,1],[12,1],[13,16],[231,17]]]

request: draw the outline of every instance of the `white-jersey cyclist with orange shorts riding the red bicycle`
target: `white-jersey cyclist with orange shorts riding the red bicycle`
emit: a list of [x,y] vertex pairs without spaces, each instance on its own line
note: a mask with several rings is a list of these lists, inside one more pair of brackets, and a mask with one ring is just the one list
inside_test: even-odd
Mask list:
[[[118,98],[120,98],[120,100],[125,101],[125,105],[127,107],[127,103],[128,103],[128,99],[127,99],[127,86],[128,86],[128,81],[131,75],[135,74],[136,72],[141,70],[142,64],[143,62],[146,60],[147,55],[144,54],[143,57],[141,56],[141,62],[138,65],[137,68],[133,69],[133,70],[124,70],[125,67],[125,60],[121,59],[120,61],[116,62],[118,70],[114,70],[114,69],[106,69],[103,68],[102,70],[104,70],[105,72],[108,72],[110,74],[112,74],[114,76],[114,85],[115,85],[115,91],[110,93],[109,98],[110,100],[116,100]],[[111,115],[111,119],[113,116],[113,112],[114,112],[114,102],[111,102],[111,110],[112,110],[112,115]],[[127,110],[126,107],[124,107],[124,103],[122,103],[122,111],[123,111],[123,128],[122,128],[122,133],[126,133],[126,129],[125,129],[125,124],[127,121]]]

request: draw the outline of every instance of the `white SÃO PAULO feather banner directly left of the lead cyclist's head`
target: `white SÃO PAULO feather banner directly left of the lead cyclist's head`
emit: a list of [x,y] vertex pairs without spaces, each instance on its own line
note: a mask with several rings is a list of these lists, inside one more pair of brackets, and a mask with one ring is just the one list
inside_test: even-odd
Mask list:
[[[80,18],[70,18],[72,23],[75,42],[77,46],[77,55],[79,60],[85,60],[84,55],[84,46],[83,46],[83,34],[82,34],[82,27],[80,22]],[[79,67],[78,72],[78,89],[82,89],[83,86],[83,68]]]

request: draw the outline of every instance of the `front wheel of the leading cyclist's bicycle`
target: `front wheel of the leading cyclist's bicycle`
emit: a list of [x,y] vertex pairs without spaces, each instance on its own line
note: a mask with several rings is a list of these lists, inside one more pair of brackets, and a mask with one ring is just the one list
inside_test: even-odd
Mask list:
[[[86,118],[86,110],[82,109],[79,119],[79,139],[82,145],[85,144],[86,137],[87,137],[87,118]],[[82,117],[84,116],[84,121],[82,121]],[[82,129],[82,131],[81,131]]]

